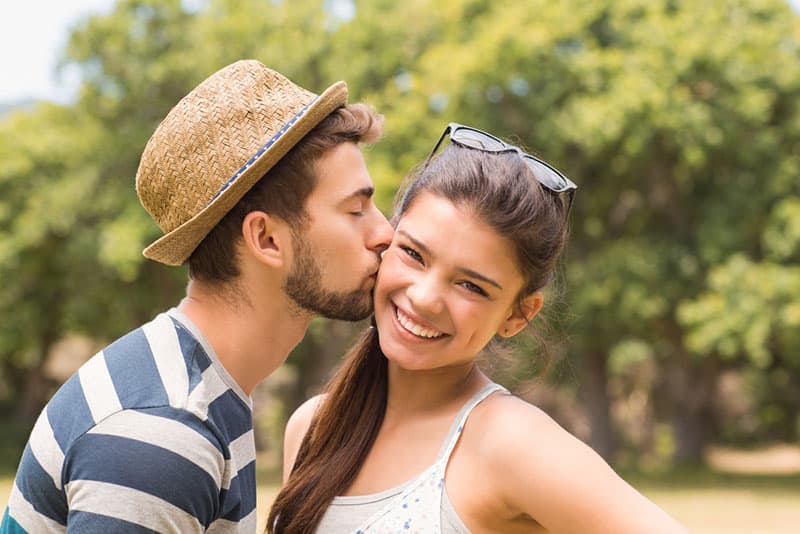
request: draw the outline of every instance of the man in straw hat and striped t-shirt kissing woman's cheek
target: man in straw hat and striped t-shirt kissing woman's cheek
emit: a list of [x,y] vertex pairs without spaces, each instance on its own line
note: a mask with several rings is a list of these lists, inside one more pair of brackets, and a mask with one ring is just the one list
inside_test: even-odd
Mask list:
[[391,240],[358,146],[379,116],[346,99],[239,61],[169,112],[136,189],[187,296],[51,399],[0,532],[255,531],[249,395],[312,317],[369,315]]

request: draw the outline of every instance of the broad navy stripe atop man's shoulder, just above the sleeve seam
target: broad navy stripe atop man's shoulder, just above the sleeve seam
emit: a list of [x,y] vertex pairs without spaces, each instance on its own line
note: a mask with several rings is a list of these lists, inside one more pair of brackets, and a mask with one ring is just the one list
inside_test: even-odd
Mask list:
[[169,404],[144,330],[139,328],[123,336],[103,353],[123,408]]

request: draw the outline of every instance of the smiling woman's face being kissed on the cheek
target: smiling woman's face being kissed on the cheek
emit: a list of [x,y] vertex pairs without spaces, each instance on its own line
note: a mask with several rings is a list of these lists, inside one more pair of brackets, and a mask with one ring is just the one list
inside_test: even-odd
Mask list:
[[525,326],[515,306],[522,285],[510,242],[472,210],[421,193],[400,219],[378,273],[381,349],[406,370],[469,363],[495,333]]

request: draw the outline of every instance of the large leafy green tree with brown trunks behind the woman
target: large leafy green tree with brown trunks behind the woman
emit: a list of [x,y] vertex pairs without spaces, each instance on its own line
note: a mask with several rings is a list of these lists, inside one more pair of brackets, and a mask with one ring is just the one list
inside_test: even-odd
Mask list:
[[[422,24],[405,18],[423,7]],[[794,228],[784,212],[798,195],[797,28],[780,0],[360,3],[342,27],[343,39],[380,35],[392,49],[390,68],[360,68],[387,114],[377,151],[396,175],[460,120],[516,136],[581,185],[569,332],[593,445],[609,456],[604,373],[629,339],[661,369],[653,394],[676,459],[698,461],[713,431],[719,355],[687,346],[678,310],[719,266],[740,254],[760,261],[767,235],[781,241]],[[348,57],[369,65],[370,52]]]

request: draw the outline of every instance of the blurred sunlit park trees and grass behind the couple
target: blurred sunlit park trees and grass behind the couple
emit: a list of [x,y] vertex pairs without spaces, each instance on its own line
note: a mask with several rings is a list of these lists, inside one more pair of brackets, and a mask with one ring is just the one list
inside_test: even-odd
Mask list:
[[[60,57],[72,97],[0,108],[0,505],[58,385],[181,298],[185,269],[141,255],[158,229],[138,160],[192,87],[255,58],[314,91],[344,79],[385,115],[365,155],[387,215],[450,121],[570,176],[544,317],[484,364],[694,532],[796,532],[800,16],[785,0],[118,0]],[[255,392],[260,506],[287,414],[363,326],[315,320]]]

